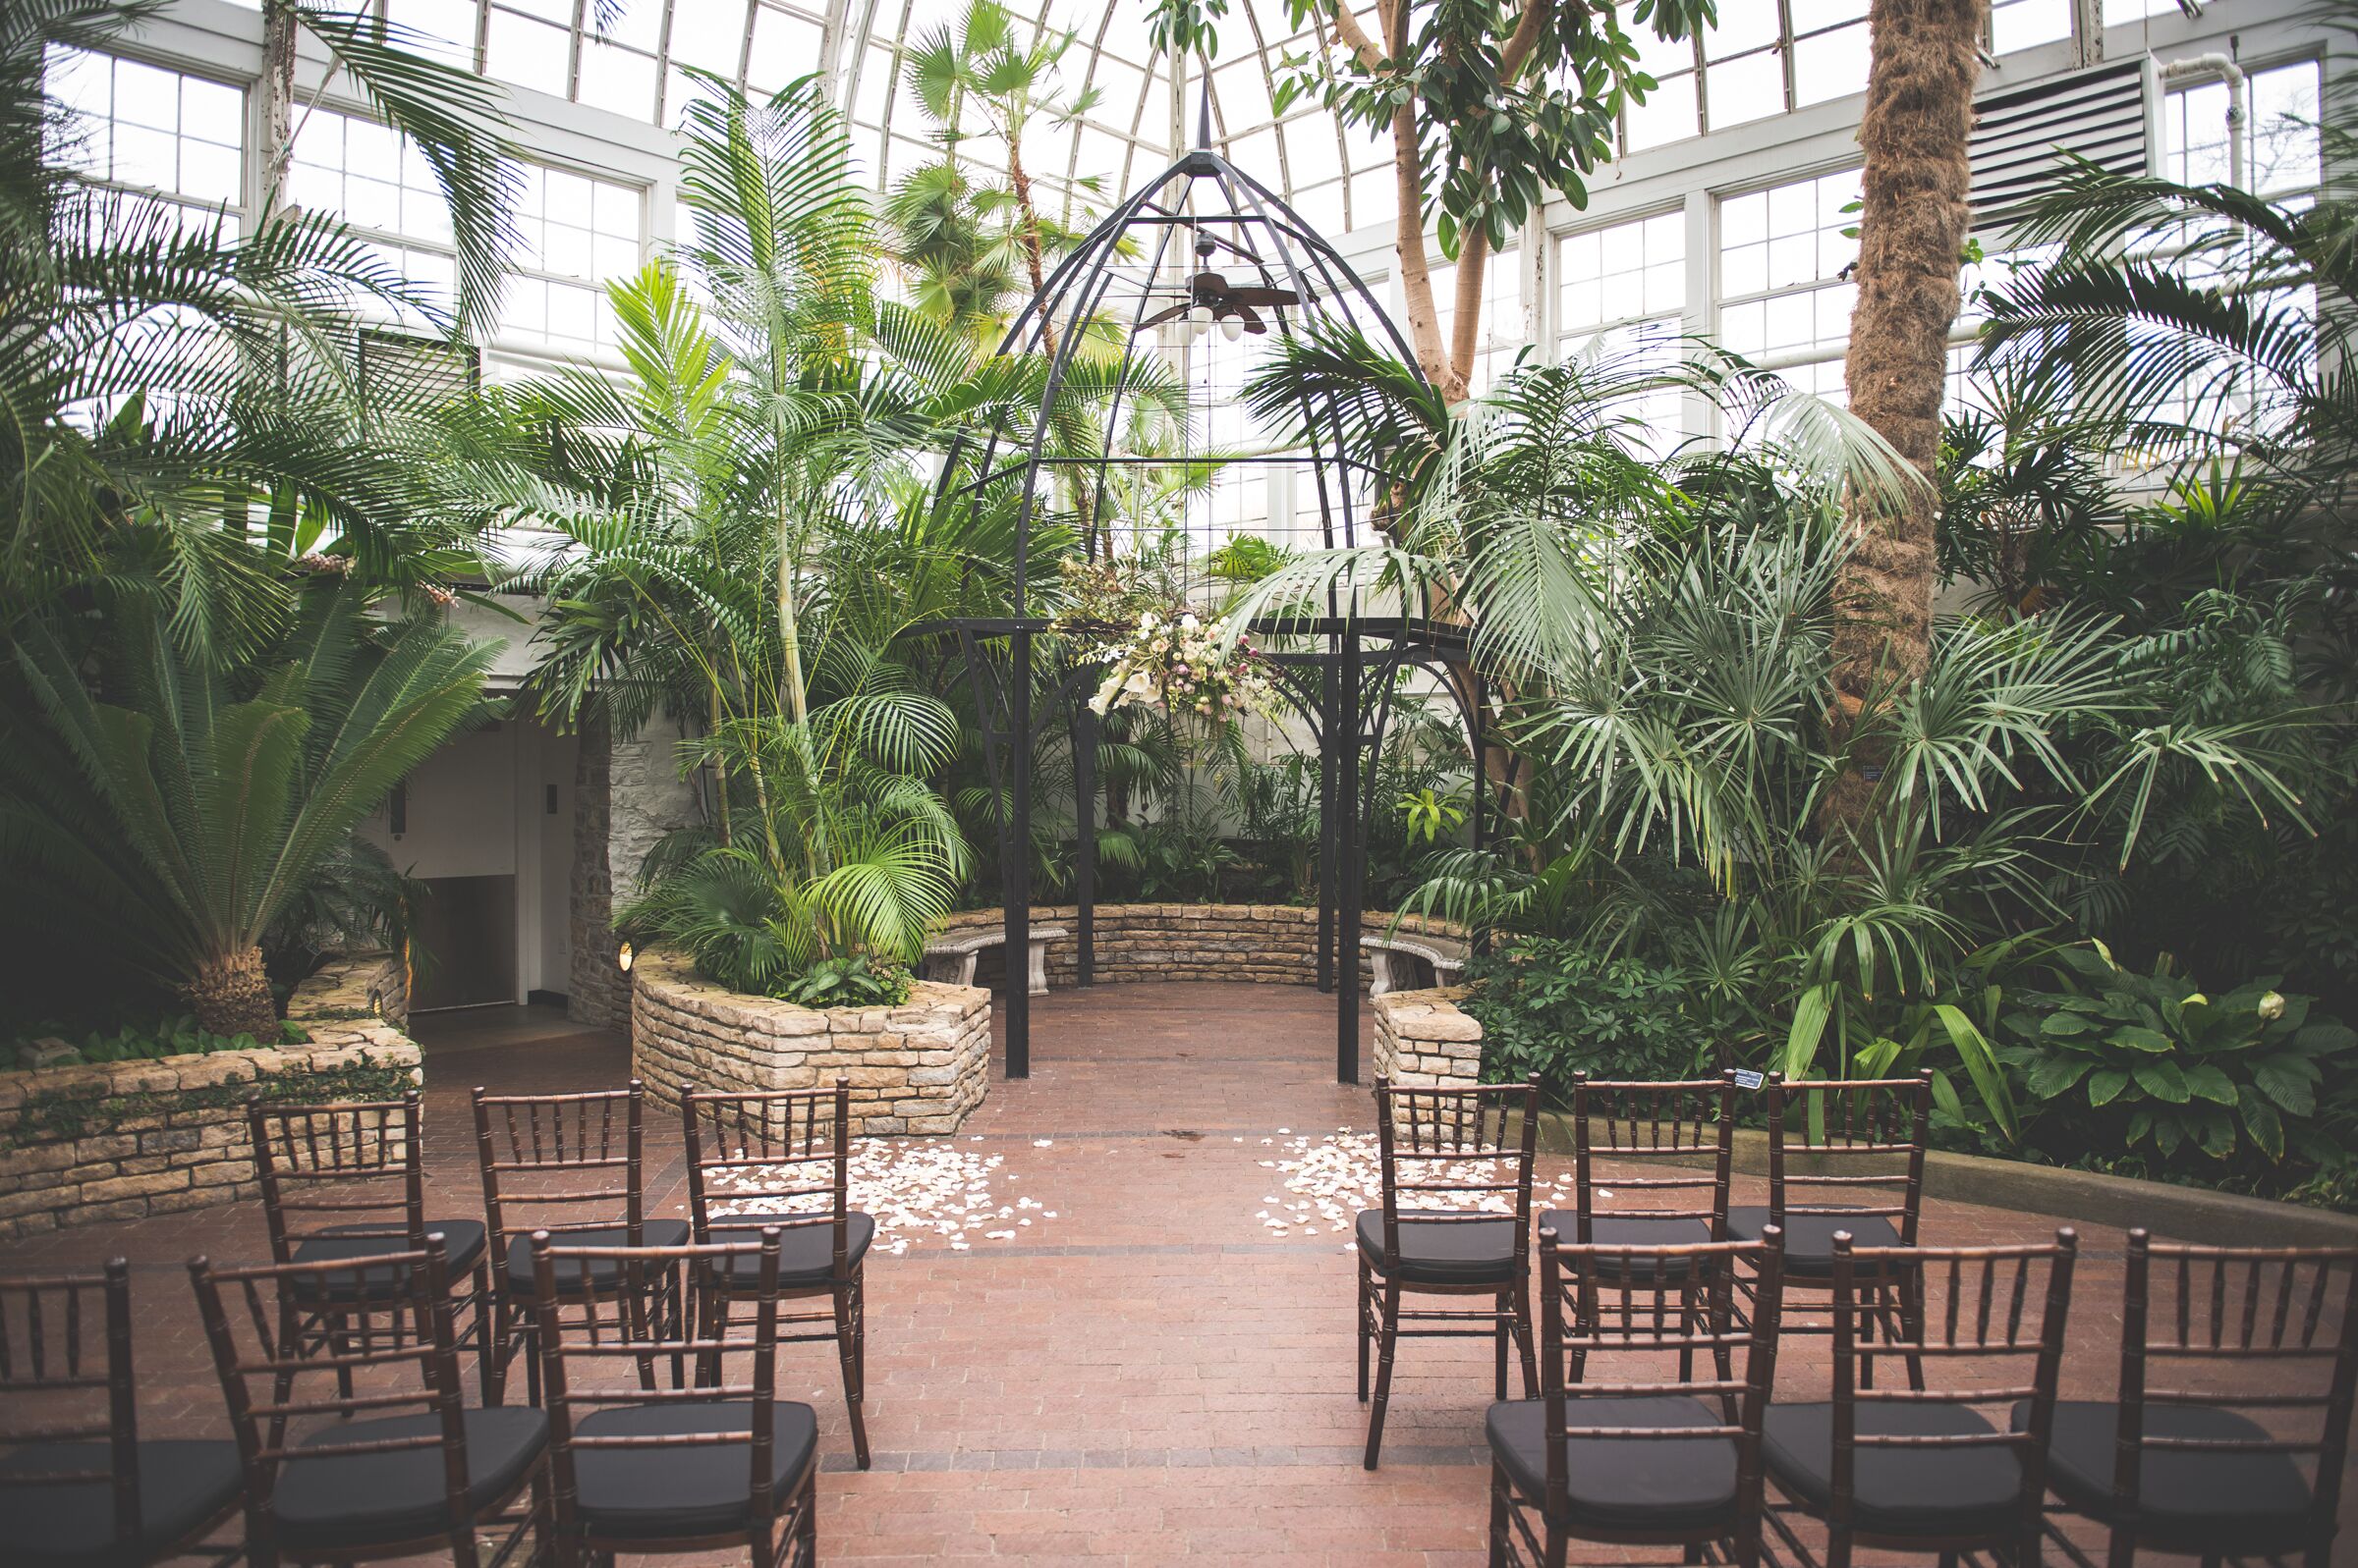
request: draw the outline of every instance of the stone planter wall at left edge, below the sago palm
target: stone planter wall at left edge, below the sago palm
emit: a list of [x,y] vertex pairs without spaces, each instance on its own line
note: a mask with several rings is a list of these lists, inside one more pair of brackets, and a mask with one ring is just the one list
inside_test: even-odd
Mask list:
[[[259,1198],[245,1101],[391,1099],[424,1082],[389,953],[295,988],[309,1045],[0,1073],[0,1240]],[[389,1021],[391,1019],[391,1021]]]

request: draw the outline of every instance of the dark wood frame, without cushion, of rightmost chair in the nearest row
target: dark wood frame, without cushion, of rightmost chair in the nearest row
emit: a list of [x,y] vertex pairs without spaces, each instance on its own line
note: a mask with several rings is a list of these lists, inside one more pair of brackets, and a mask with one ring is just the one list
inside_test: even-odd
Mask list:
[[[2176,1276],[2176,1311],[2155,1323],[2153,1266]],[[2332,1273],[2344,1271],[2334,1292]],[[2268,1276],[2275,1290],[2268,1292]],[[2301,1276],[2306,1273],[2306,1290]],[[2242,1287],[2235,1290],[2233,1276]],[[2339,1330],[2332,1297],[2339,1294]],[[2240,1297],[2240,1313],[2235,1311]],[[2323,1335],[2320,1335],[2323,1330]],[[2316,1368],[2323,1379],[2308,1379],[2301,1394],[2205,1394],[2195,1389],[2153,1386],[2153,1363],[2214,1368]],[[2327,1370],[2330,1368],[2330,1370]],[[2283,1372],[2278,1372],[2283,1377]],[[2316,1476],[2308,1483],[2308,1530],[2299,1544],[2254,1551],[2280,1561],[2299,1551],[2306,1568],[2327,1568],[2341,1511],[2341,1474],[2349,1464],[2351,1408],[2358,1396],[2358,1247],[2179,1247],[2155,1245],[2146,1231],[2129,1231],[2129,1278],[2122,1292],[2120,1323],[2120,1427],[2113,1443],[2113,1500],[2096,1521],[2106,1526],[2108,1568],[2129,1568],[2139,1547],[2169,1554],[2188,1551],[2184,1537],[2141,1528],[2139,1478],[2146,1450],[2221,1452],[2221,1455],[2313,1455]],[[2316,1415],[2311,1438],[2162,1438],[2146,1434],[2148,1405],[2212,1405],[2226,1410],[2273,1410],[2290,1424],[2297,1412]],[[2059,1511],[2068,1511],[2061,1504]],[[2174,1526],[2176,1528],[2176,1526]],[[2084,1551],[2049,1521],[2049,1537],[2082,1568],[2094,1568]],[[2226,1561],[2205,1554],[2205,1568]]]

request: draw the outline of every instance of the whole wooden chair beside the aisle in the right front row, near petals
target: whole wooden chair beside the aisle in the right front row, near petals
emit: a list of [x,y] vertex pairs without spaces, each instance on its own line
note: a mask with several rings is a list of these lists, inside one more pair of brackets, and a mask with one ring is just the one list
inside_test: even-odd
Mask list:
[[[1523,1358],[1523,1394],[1537,1394],[1540,1370],[1530,1349],[1530,1158],[1540,1137],[1540,1080],[1410,1089],[1379,1078],[1375,1129],[1384,1207],[1365,1210],[1353,1226],[1361,1401],[1368,1401],[1368,1344],[1377,1344],[1368,1469],[1375,1469],[1384,1448],[1391,1361],[1403,1337],[1488,1335],[1497,1344],[1497,1398],[1507,1398],[1511,1335]],[[1476,1207],[1453,1207],[1460,1203]],[[1410,1292],[1490,1297],[1493,1304],[1403,1311],[1401,1297]]]

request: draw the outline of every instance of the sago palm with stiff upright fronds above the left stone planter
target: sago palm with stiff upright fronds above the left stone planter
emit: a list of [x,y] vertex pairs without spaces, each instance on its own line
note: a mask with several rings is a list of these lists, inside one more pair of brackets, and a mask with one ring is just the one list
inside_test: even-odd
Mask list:
[[0,917],[40,953],[189,997],[217,1035],[274,1037],[262,943],[413,766],[483,712],[500,644],[370,618],[335,585],[302,594],[252,670],[191,653],[125,601],[94,648],[45,625],[0,707]]

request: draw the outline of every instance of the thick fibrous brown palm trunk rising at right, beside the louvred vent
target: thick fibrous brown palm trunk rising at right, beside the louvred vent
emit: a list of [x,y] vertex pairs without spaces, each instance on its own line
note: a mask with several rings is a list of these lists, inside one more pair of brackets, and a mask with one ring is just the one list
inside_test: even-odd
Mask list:
[[[1870,707],[1924,674],[1931,651],[1934,465],[1948,330],[1957,321],[1981,35],[1988,0],[1875,0],[1868,9],[1868,106],[1858,219],[1858,309],[1844,380],[1851,413],[1924,476],[1903,498],[1851,495],[1851,559],[1835,585],[1835,745]],[[1856,830],[1882,757],[1872,745],[1827,795],[1823,823]]]

